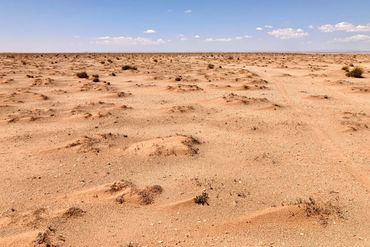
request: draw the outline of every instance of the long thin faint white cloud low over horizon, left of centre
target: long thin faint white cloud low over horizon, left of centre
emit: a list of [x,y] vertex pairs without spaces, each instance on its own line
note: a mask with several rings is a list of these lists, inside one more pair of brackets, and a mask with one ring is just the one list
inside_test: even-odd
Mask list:
[[96,43],[105,45],[146,46],[146,45],[161,45],[166,42],[163,39],[149,39],[142,37],[127,37],[127,36],[117,36],[117,37],[105,36],[97,38]]

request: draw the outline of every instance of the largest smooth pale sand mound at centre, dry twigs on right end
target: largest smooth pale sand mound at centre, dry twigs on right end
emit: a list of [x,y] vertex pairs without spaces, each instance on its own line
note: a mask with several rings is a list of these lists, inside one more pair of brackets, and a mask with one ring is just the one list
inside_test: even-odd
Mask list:
[[146,157],[194,155],[198,153],[198,149],[194,147],[196,144],[199,141],[191,136],[160,137],[135,143],[126,149],[126,153]]

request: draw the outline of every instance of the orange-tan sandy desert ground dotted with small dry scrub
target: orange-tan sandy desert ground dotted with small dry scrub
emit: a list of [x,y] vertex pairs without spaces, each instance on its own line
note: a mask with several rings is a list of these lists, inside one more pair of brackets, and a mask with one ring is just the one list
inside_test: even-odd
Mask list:
[[0,246],[370,246],[370,55],[0,64]]

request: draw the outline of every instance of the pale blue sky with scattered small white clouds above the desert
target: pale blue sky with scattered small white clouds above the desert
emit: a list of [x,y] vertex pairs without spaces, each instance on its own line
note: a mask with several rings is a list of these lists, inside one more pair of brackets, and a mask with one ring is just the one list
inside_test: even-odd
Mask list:
[[370,51],[368,0],[0,0],[0,52]]

